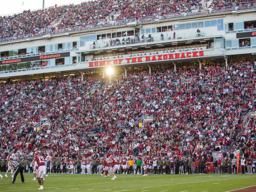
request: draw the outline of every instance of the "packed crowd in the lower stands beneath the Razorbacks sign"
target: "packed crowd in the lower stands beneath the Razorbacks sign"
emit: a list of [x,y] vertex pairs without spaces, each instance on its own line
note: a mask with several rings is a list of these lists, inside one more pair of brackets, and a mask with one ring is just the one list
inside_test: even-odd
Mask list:
[[[186,76],[192,83],[177,86]],[[131,71],[127,79],[68,76],[2,83],[0,156],[31,158],[42,150],[61,159],[195,157],[232,147],[248,149],[255,158],[255,126],[240,126],[242,113],[255,109],[254,78],[254,61],[239,61],[227,69],[183,66],[176,73],[155,67],[152,74]],[[89,94],[92,85],[96,90]],[[152,114],[153,121],[135,124],[143,114]],[[42,121],[49,125],[38,127]]]

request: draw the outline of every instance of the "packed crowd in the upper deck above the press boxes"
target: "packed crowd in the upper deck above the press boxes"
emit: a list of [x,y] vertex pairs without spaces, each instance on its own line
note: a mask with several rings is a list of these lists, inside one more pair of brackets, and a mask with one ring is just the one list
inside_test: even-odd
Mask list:
[[[244,5],[246,3],[246,5]],[[214,0],[210,7],[214,11],[232,9],[234,7],[255,6],[255,2],[244,1],[224,1]],[[94,0],[82,2],[78,5],[70,4],[54,7],[48,7],[40,10],[24,10],[22,13],[10,16],[0,17],[0,38],[1,41],[17,40],[19,38],[29,38],[35,35],[64,32],[63,27],[72,26],[107,26],[107,20],[112,12],[120,11],[120,15],[115,19],[114,24],[122,23],[123,21],[131,22],[135,19],[144,21],[147,17],[165,16],[167,14],[180,15],[183,13],[192,13],[192,7],[201,6],[199,0],[183,1],[180,3],[177,0],[157,1],[157,0]],[[102,7],[105,9],[102,10]],[[207,14],[202,7],[198,12]],[[51,25],[53,21],[57,21],[56,26]],[[113,23],[112,23],[113,24]],[[65,31],[66,32],[66,31]]]

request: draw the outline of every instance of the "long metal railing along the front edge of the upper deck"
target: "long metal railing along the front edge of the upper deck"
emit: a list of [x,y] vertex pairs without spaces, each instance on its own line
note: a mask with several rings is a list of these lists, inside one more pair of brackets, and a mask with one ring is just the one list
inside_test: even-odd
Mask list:
[[16,33],[14,35],[4,35],[0,38],[0,42],[9,42],[9,41],[17,41],[17,40],[26,40],[28,38],[38,38],[44,35],[60,35],[62,33],[69,33],[75,31],[91,31],[93,29],[99,28],[109,28],[114,26],[122,26],[126,25],[128,22],[136,21],[137,24],[142,24],[144,22],[154,22],[155,19],[159,20],[166,20],[166,19],[175,19],[175,18],[183,18],[183,17],[190,17],[190,16],[201,16],[206,14],[213,14],[213,13],[225,13],[231,12],[233,10],[247,10],[247,9],[255,9],[256,3],[254,2],[246,2],[246,3],[232,3],[227,5],[212,5],[208,10],[203,10],[202,6],[193,7],[194,10],[197,12],[192,11],[191,9],[187,12],[182,11],[175,11],[175,12],[167,12],[167,13],[160,13],[160,14],[152,14],[148,16],[136,16],[136,17],[121,17],[116,19],[114,23],[99,24],[100,22],[93,22],[92,24],[78,24],[73,26],[66,26],[62,28],[58,28],[55,31],[45,31],[40,32],[37,34],[33,34],[32,31],[29,33]]

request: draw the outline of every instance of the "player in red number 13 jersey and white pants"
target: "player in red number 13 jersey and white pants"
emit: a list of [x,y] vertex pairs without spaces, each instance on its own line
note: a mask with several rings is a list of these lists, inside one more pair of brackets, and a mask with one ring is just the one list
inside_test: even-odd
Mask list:
[[38,183],[40,185],[40,188],[38,190],[43,190],[43,177],[46,173],[46,163],[43,156],[40,156],[40,152],[38,150],[35,152],[34,161],[35,161],[34,171],[36,171],[36,167],[38,166],[38,171],[36,174]]

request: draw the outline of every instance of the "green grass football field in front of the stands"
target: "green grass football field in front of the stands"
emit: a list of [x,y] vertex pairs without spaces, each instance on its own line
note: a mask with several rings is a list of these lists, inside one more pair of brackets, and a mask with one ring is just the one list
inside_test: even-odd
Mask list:
[[[3,174],[2,174],[3,175]],[[40,187],[32,174],[24,174],[25,183],[21,183],[20,175],[16,183],[11,185],[11,175],[0,180],[0,192],[38,191]],[[43,191],[53,192],[225,192],[256,185],[254,174],[232,175],[112,175],[103,178],[100,175],[49,174],[45,177]]]

